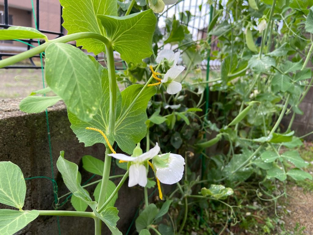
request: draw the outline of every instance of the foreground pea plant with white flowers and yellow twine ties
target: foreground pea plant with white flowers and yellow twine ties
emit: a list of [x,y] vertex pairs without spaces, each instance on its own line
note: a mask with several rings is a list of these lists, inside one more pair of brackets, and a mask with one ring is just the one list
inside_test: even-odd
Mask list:
[[[57,168],[69,191],[73,194],[72,204],[77,211],[41,211],[23,210],[26,184],[20,168],[12,162],[0,162],[0,202],[18,210],[0,210],[1,234],[14,234],[41,215],[90,217],[95,221],[95,234],[101,234],[102,222],[112,234],[121,234],[116,227],[119,220],[118,210],[114,207],[117,194],[127,178],[128,186],[144,187],[145,202],[148,206],[147,179],[149,167],[155,174],[159,197],[162,199],[161,183],[174,184],[182,179],[184,158],[179,154],[160,153],[162,146],[154,143],[146,152],[140,148],[140,141],[147,133],[146,108],[149,100],[157,91],[157,86],[165,87],[169,94],[182,90],[182,85],[174,81],[185,69],[177,66],[179,53],[162,50],[156,57],[156,63],[149,67],[151,76],[145,84],[133,84],[123,91],[117,86],[113,50],[121,59],[130,64],[140,64],[153,54],[152,38],[156,29],[155,12],[162,12],[164,4],[175,2],[150,1],[151,9],[130,14],[135,1],[131,1],[124,16],[118,16],[117,1],[68,1],[61,0],[63,6],[64,28],[68,35],[48,40],[38,30],[27,27],[10,27],[1,30],[0,39],[44,39],[36,48],[0,61],[0,67],[14,64],[23,59],[42,53],[45,60],[45,79],[48,87],[34,91],[20,103],[24,112],[41,112],[47,107],[63,100],[67,106],[71,128],[85,146],[95,143],[105,144],[104,162],[85,156],[86,170],[102,175],[102,180],[94,193],[93,200],[88,191],[81,186],[78,166],[66,160],[64,151],[60,152]],[[157,9],[156,9],[157,8]],[[95,55],[105,52],[107,68],[86,55],[80,49],[66,44],[76,40]],[[162,66],[164,73],[157,70]],[[155,82],[152,82],[155,80]],[[53,92],[54,96],[45,96]],[[114,143],[123,153],[116,153]],[[116,186],[110,178],[112,157],[119,163],[126,162],[126,173]],[[152,161],[150,161],[152,160]],[[91,165],[103,166],[94,169]],[[156,218],[162,217],[168,210],[169,203],[159,211]],[[154,205],[154,204],[150,204]],[[92,212],[85,212],[89,206]],[[154,205],[155,206],[155,205]],[[167,209],[167,210],[166,210]],[[155,227],[145,227],[158,232]]]

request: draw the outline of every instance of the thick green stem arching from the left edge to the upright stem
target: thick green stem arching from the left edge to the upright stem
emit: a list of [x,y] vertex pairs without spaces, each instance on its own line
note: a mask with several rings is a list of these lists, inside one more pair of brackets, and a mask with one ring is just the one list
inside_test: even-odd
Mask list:
[[102,41],[105,45],[110,44],[110,41],[106,37],[104,37],[100,34],[96,34],[96,33],[84,32],[84,33],[69,34],[69,35],[65,35],[65,36],[60,37],[60,38],[49,40],[48,42],[46,42],[46,43],[44,43],[38,47],[35,47],[31,50],[27,50],[27,51],[22,52],[18,55],[14,55],[14,56],[11,56],[7,59],[0,60],[0,68],[3,68],[3,67],[8,66],[8,65],[13,65],[13,64],[15,64],[21,60],[28,59],[30,57],[33,57],[34,55],[38,55],[41,52],[44,52],[46,50],[46,48],[52,43],[66,43],[66,42],[71,42],[74,40],[86,39],[86,38],[98,39],[98,40]]

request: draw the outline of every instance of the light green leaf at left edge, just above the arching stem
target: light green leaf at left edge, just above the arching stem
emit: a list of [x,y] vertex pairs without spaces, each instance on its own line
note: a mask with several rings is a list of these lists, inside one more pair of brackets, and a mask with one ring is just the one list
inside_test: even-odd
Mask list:
[[22,26],[11,26],[0,30],[0,40],[10,39],[46,39],[47,36],[36,29]]

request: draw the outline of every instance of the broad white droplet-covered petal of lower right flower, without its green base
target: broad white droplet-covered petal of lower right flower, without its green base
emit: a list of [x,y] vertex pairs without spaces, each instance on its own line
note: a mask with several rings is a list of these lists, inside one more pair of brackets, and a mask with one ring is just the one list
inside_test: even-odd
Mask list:
[[[162,156],[161,154],[160,156]],[[182,179],[184,174],[185,159],[178,154],[171,154],[168,158],[167,167],[156,167],[156,177],[163,184],[172,185]]]

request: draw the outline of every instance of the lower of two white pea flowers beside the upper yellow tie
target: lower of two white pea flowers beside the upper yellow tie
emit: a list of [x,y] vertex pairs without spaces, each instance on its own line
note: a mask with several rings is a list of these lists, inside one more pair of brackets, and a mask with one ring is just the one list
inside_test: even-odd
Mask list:
[[175,66],[167,70],[164,78],[161,80],[162,84],[167,86],[166,91],[168,94],[174,95],[182,90],[182,84],[174,81],[175,78],[185,69],[184,66]]

